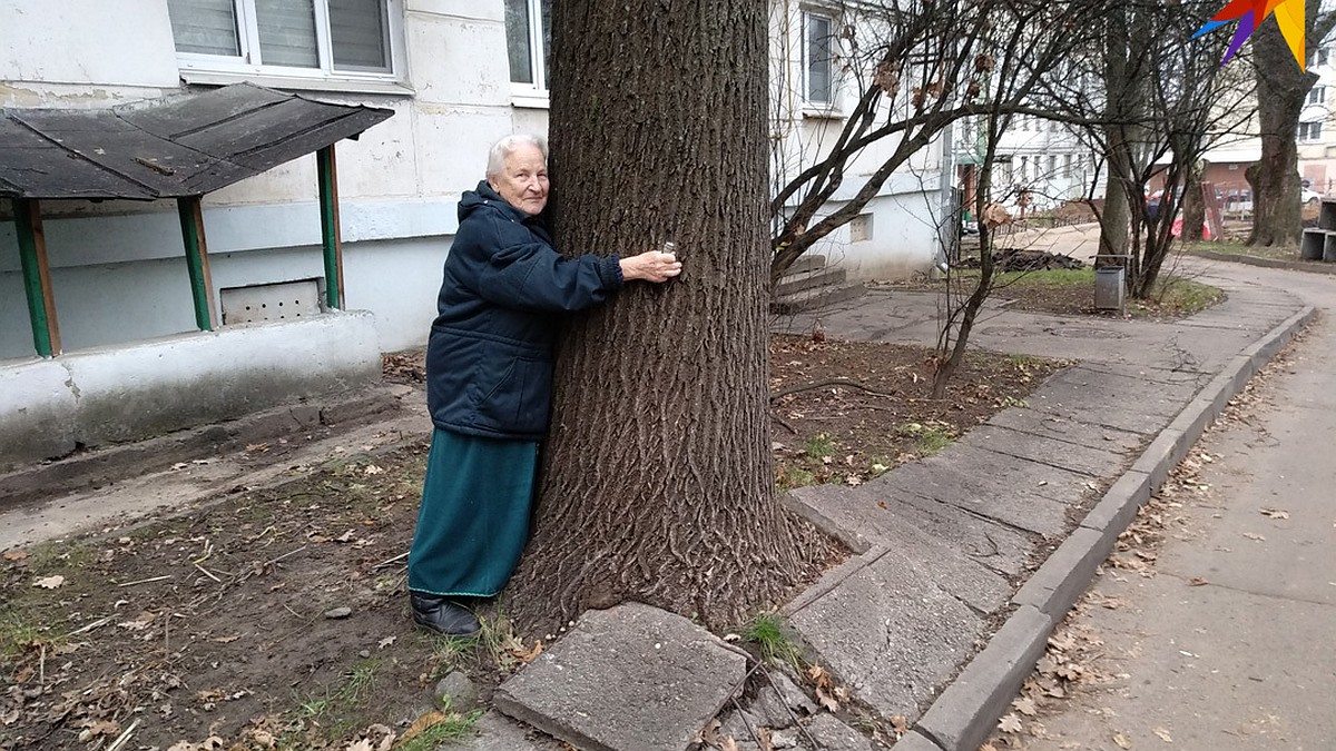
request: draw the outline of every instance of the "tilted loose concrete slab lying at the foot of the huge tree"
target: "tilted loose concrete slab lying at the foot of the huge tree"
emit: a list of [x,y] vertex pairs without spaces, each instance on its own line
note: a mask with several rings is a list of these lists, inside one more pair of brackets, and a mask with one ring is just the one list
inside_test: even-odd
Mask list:
[[745,652],[679,615],[628,603],[580,616],[493,700],[587,751],[683,751],[745,673]]

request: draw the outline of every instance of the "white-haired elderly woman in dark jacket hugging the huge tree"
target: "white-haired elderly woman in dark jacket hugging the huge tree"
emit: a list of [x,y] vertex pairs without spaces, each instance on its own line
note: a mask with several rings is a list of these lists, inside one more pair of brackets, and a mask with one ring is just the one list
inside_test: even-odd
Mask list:
[[490,597],[514,571],[529,535],[538,441],[548,428],[554,314],[599,305],[624,282],[681,273],[669,253],[564,258],[540,216],[548,148],[532,135],[501,139],[486,180],[460,200],[426,349],[428,454],[409,553],[413,621],[449,636],[478,631],[453,601]]

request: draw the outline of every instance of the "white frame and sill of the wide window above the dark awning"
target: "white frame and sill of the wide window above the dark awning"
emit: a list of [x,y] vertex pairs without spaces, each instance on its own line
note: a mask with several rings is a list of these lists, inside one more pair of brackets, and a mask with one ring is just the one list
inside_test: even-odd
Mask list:
[[[329,32],[329,4],[314,0],[315,48],[318,68],[267,65],[251,63],[251,51],[259,52],[259,24],[255,0],[232,0],[236,16],[236,39],[240,53],[202,55],[178,52],[176,65],[186,83],[228,84],[254,82],[278,88],[347,91],[371,94],[411,94],[406,86],[407,63],[403,53],[403,0],[381,0],[385,4],[385,44],[389,71],[346,71],[334,68],[334,49]],[[164,4],[166,7],[166,4]]]

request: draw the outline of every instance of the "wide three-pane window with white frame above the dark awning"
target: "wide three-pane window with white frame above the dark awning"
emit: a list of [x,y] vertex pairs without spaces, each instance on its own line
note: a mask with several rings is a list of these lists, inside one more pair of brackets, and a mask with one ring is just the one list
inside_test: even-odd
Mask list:
[[383,80],[394,76],[399,3],[167,0],[167,9],[183,71]]

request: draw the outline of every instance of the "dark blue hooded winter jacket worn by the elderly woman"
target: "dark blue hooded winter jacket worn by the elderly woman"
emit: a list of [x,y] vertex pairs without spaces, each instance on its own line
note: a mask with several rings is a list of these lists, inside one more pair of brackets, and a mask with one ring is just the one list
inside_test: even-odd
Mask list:
[[444,430],[538,441],[560,318],[621,287],[616,255],[562,258],[542,219],[484,180],[460,200],[426,346],[426,402]]

